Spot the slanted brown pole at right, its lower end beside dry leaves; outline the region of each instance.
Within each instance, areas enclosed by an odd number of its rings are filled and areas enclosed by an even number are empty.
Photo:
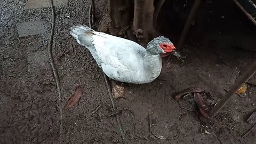
[[[225,106],[228,100],[234,95],[256,72],[256,60],[249,66],[244,74],[235,82],[235,84],[230,88],[230,90],[225,94],[224,97],[217,103],[216,106],[210,111],[210,117],[215,116],[218,111]]]

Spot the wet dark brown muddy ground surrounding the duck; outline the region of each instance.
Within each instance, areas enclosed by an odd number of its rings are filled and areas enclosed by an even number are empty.
[[[61,105],[47,56],[51,9],[25,10],[26,2],[0,3],[0,143],[59,143],[60,139],[63,143],[122,143],[116,118],[105,116],[111,102],[102,72],[89,51],[69,34],[71,26],[88,24],[89,1],[68,1],[55,7],[53,54],[61,82]],[[95,2],[100,19],[107,1]],[[174,44],[186,15],[186,10],[182,12],[162,11],[160,31]],[[17,23],[31,20],[42,21],[45,33],[19,37]],[[162,74],[152,83],[124,84],[126,99],[116,100],[116,105],[130,110],[118,115],[127,142],[254,143],[256,129],[241,136],[252,127],[246,119],[256,110],[256,76],[244,94],[234,95],[211,120],[182,109],[174,95],[200,87],[220,97],[255,60],[255,33],[255,26],[232,1],[203,1],[181,49],[186,58],[172,58],[167,64],[164,59]],[[64,109],[77,85],[84,91],[81,100]],[[100,104],[97,113],[92,113]],[[167,139],[148,138],[149,112],[153,112],[153,133]]]

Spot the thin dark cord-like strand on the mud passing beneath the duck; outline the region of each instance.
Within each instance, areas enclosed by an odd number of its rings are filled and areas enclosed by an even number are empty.
[[[92,1],[91,1],[92,2]],[[90,6],[90,10],[92,8],[92,3],[91,3],[91,6]],[[89,10],[89,26],[90,28],[92,28],[92,23],[91,23],[91,11]],[[102,70],[103,72],[103,70]],[[110,98],[110,101],[111,101],[111,104],[112,104],[112,107],[115,109],[116,108],[116,104],[115,104],[115,100],[113,98],[113,95],[112,95],[112,92],[110,90],[110,85],[109,85],[109,82],[108,82],[108,78],[106,76],[106,74],[103,72],[103,76],[104,76],[104,79],[105,79],[105,82],[106,82],[106,86],[107,86],[107,90],[108,90],[108,94],[109,94],[109,98]],[[123,126],[122,126],[122,123],[120,121],[120,118],[118,115],[115,115],[116,116],[116,121],[117,121],[117,124],[119,126],[119,132],[121,133],[121,137],[123,139],[123,143],[127,143],[126,142],[126,138],[125,138],[125,135],[124,135],[124,131],[123,131]]]

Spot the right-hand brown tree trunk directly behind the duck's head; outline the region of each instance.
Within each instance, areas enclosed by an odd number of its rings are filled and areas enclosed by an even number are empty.
[[[149,39],[159,35],[153,22],[154,0],[134,0],[133,28],[139,43],[144,46],[147,45]]]

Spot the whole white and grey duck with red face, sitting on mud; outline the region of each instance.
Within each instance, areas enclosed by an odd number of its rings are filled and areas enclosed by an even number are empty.
[[[162,69],[160,54],[174,51],[172,42],[163,36],[148,43],[147,49],[124,39],[94,31],[87,26],[73,26],[70,34],[76,41],[90,50],[104,73],[119,82],[144,84],[156,79]]]

